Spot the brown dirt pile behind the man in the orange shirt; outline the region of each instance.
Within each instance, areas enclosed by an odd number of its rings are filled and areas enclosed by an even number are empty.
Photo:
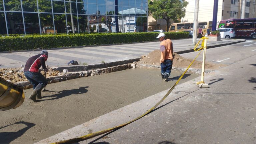
[[[187,68],[190,63],[193,61],[192,59],[187,59],[180,56],[177,53],[173,53],[174,60],[173,60],[173,67],[180,67],[180,68]],[[139,63],[147,64],[147,65],[160,65],[160,58],[161,52],[160,50],[154,50],[153,52],[149,53],[147,56],[142,56]],[[214,70],[218,69],[220,66],[224,66],[222,64],[215,64],[211,62],[205,63],[205,69]],[[190,68],[194,69],[201,69],[202,68],[202,61],[194,61]]]

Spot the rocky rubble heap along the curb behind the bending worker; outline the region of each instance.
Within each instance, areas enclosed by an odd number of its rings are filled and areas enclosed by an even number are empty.
[[[52,68],[49,68],[48,70],[49,71],[46,73],[47,77],[58,76],[61,74],[59,71],[54,71]],[[44,72],[41,71],[41,73],[43,74]],[[1,68],[0,76],[12,83],[27,81],[22,68]]]

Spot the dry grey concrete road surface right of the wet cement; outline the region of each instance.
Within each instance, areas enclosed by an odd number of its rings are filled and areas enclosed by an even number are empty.
[[[250,65],[255,59],[256,55],[253,55],[208,73],[205,81],[210,82],[210,88],[195,86],[195,82],[201,81],[200,77],[177,85],[152,113],[100,139],[92,138],[79,143],[255,144],[256,93],[255,80],[253,82],[251,78],[255,75],[255,66]],[[235,84],[237,82],[243,85]],[[102,115],[37,144],[75,138],[128,122],[153,107],[167,91]]]

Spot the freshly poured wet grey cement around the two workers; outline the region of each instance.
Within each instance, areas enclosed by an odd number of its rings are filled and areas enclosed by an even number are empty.
[[[128,69],[46,86],[43,98],[0,111],[0,143],[31,144],[173,86],[180,71],[164,82],[159,70]],[[198,77],[186,74],[180,83]]]

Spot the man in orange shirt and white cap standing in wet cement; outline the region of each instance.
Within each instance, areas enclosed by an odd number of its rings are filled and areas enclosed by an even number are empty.
[[[160,43],[160,51],[161,51],[161,76],[163,81],[167,81],[168,77],[171,74],[172,70],[172,61],[173,61],[173,44],[170,39],[165,39],[164,33],[159,33],[157,36]]]

